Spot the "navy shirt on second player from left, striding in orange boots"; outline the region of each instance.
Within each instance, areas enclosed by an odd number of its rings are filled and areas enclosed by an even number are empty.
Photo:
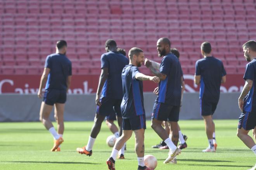
[[[101,97],[123,98],[122,70],[129,60],[119,52],[107,52],[101,55],[101,68],[108,68],[109,75],[103,86]]]

